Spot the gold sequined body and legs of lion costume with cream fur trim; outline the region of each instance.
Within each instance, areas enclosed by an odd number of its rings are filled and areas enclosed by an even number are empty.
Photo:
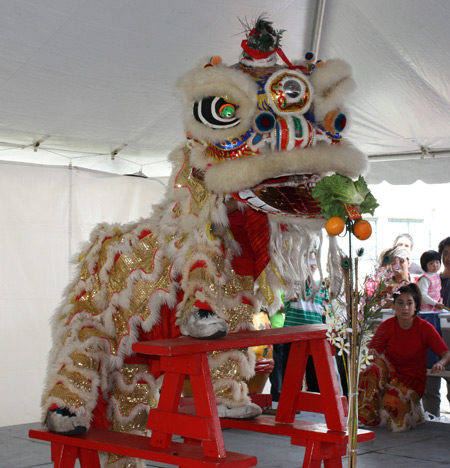
[[[228,218],[217,215],[223,197],[206,189],[187,150],[181,155],[166,199],[151,218],[99,226],[80,254],[78,277],[54,317],[44,414],[57,405],[89,420],[100,391],[112,429],[145,432],[159,385],[147,366],[126,360],[142,331],[168,319],[161,310],[176,311],[180,325],[202,301],[227,320],[231,332],[252,328],[254,278],[232,268],[238,245]],[[248,403],[252,352],[212,353],[209,359],[218,402]],[[112,457],[110,463],[118,461]]]

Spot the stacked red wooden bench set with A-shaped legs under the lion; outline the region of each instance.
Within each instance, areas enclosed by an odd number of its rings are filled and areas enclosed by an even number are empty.
[[[32,430],[30,437],[52,442],[55,468],[73,468],[76,458],[82,468],[98,468],[97,450],[180,467],[255,466],[256,457],[225,450],[221,428],[229,427],[290,436],[293,445],[306,447],[303,468],[318,468],[322,460],[327,468],[341,468],[348,441],[346,399],[339,392],[326,330],[326,325],[306,325],[242,331],[219,340],[180,337],[136,343],[133,345],[136,352],[159,356],[161,370],[165,372],[158,407],[148,417],[150,438],[93,429],[82,436]],[[207,353],[286,342],[292,345],[275,418],[220,420]],[[317,369],[320,393],[301,391],[309,354]],[[186,376],[192,387],[191,407],[180,404]],[[323,413],[326,424],[295,420],[298,410]],[[173,435],[182,436],[185,443],[173,442]],[[358,431],[359,441],[373,438],[371,431]]]

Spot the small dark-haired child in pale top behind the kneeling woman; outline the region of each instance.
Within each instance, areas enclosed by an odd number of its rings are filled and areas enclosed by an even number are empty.
[[[424,271],[417,280],[420,292],[422,293],[422,305],[420,311],[438,312],[444,308],[441,302],[441,256],[435,250],[427,250],[420,257],[420,266]]]

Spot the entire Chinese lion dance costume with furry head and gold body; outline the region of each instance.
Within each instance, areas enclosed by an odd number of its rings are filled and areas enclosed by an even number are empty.
[[[42,400],[49,430],[145,432],[163,376],[133,343],[220,338],[252,328],[261,307],[277,311],[280,290],[304,294],[309,252],[324,241],[311,189],[329,174],[358,177],[367,161],[340,133],[350,67],[311,54],[291,63],[280,38],[259,18],[237,64],[213,57],[178,81],[187,138],[170,155],[163,201],[148,219],[96,228],[53,317]],[[341,287],[335,239],[328,248],[333,292]],[[219,415],[259,415],[245,383],[253,352],[209,359]],[[105,463],[143,466],[115,455]]]

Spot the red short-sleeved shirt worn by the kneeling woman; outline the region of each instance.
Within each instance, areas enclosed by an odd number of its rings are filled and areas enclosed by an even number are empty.
[[[403,330],[396,317],[385,320],[369,347],[384,353],[398,379],[420,396],[425,393],[428,348],[438,356],[448,349],[436,329],[419,317],[414,318],[409,330]]]

